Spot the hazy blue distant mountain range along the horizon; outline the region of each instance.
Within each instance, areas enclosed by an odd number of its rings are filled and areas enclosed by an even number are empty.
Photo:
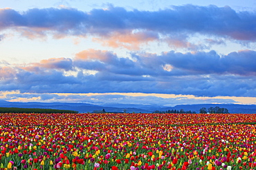
[[[0,100],[0,107],[21,107],[21,108],[44,108],[44,109],[67,109],[75,110],[80,113],[102,111],[104,109],[107,112],[123,112],[124,110],[132,113],[152,113],[153,111],[167,111],[167,110],[185,110],[196,111],[202,107],[224,107],[227,108],[231,114],[256,114],[256,105],[235,105],[235,104],[202,104],[202,105],[176,105],[174,107],[164,107],[162,105],[129,105],[119,103],[107,103],[102,105],[91,105],[88,103],[21,103],[21,102],[8,102]]]

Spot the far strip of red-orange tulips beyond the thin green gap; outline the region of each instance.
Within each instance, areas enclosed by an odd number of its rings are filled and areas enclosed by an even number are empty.
[[[188,125],[255,123],[255,114],[1,114],[0,125]]]

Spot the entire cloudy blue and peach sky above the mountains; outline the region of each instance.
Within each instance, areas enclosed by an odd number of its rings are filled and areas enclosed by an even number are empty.
[[[0,100],[256,104],[256,1],[0,0]]]

